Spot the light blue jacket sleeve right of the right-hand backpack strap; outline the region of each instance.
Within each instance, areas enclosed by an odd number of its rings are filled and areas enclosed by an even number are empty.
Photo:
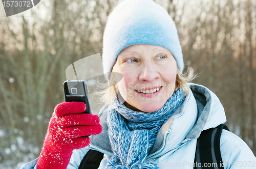
[[[247,144],[236,134],[223,130],[220,150],[225,169],[256,168],[256,157]]]

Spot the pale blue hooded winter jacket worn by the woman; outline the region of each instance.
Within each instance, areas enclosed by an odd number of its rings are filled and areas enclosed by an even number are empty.
[[[197,138],[202,130],[217,127],[226,122],[224,108],[218,97],[204,86],[190,83],[190,90],[182,105],[160,128],[156,142],[146,157],[156,162],[158,168],[193,168],[194,165],[210,166],[214,164],[194,164]],[[91,144],[74,150],[68,169],[78,168],[89,149],[104,153],[99,169],[108,164],[111,150],[106,116],[109,106],[99,112],[102,132],[92,135]],[[256,158],[246,143],[237,135],[223,130],[220,150],[224,168],[256,168]],[[20,169],[36,168],[38,158]]]

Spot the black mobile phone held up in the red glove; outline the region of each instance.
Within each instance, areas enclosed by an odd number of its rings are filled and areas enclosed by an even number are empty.
[[[66,80],[63,83],[65,102],[78,101],[86,104],[84,113],[91,114],[88,98],[88,86],[84,80]]]

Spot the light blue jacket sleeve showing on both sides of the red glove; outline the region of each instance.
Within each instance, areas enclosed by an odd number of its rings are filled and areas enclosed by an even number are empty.
[[[71,156],[67,169],[77,169],[84,155],[86,155],[88,151],[89,151],[88,146],[82,149],[73,150],[73,154]],[[36,169],[36,163],[38,159],[39,157],[31,162],[24,164],[20,169]]]

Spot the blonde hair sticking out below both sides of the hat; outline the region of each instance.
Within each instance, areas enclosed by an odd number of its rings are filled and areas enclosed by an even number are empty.
[[[185,91],[184,96],[186,96],[189,92],[188,82],[195,79],[197,75],[195,75],[195,69],[191,66],[188,66],[186,73],[182,74],[177,67],[177,76],[176,76],[176,84],[175,91],[182,88]],[[99,95],[99,100],[101,103],[109,103],[111,105],[111,101],[114,96],[117,95],[117,80],[115,74],[112,72],[110,75],[110,80],[103,79],[101,81],[97,80],[95,94]]]

